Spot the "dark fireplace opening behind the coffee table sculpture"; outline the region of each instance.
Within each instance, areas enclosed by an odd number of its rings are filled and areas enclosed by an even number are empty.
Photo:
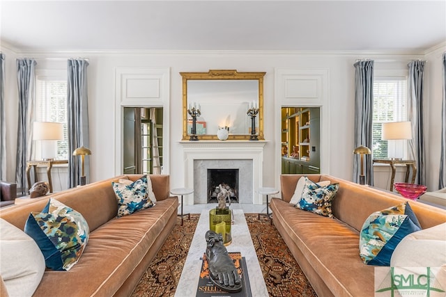
[[[208,169],[208,203],[217,203],[220,184],[229,191],[231,203],[238,203],[238,169]]]

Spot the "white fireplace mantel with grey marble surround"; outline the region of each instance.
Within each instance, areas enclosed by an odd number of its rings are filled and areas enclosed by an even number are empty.
[[[267,141],[180,141],[183,145],[185,187],[194,188],[194,195],[185,197],[185,204],[206,203],[206,182],[200,182],[195,175],[201,174],[206,166],[215,168],[242,168],[249,170],[249,188],[245,193],[252,198],[239,200],[240,203],[263,204],[263,197],[257,189],[263,186],[263,147]],[[215,162],[220,160],[222,162]],[[251,170],[252,168],[252,170]],[[198,172],[198,173],[197,173]],[[243,172],[239,170],[239,178]],[[251,178],[249,177],[251,176]],[[240,186],[240,184],[239,184]],[[204,191],[204,192],[203,192]],[[243,191],[239,188],[239,191]]]

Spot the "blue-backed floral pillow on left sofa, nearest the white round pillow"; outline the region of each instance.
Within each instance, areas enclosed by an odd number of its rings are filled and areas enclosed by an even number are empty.
[[[24,232],[36,241],[48,268],[68,271],[84,252],[90,230],[82,214],[49,199],[42,212],[31,212]]]

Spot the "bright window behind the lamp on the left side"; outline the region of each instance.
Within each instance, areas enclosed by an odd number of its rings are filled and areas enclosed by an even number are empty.
[[[63,141],[57,141],[56,159],[68,159],[67,131],[67,81],[65,77],[37,77],[36,113],[38,122],[61,122]],[[36,147],[36,159],[41,159],[40,147]]]

